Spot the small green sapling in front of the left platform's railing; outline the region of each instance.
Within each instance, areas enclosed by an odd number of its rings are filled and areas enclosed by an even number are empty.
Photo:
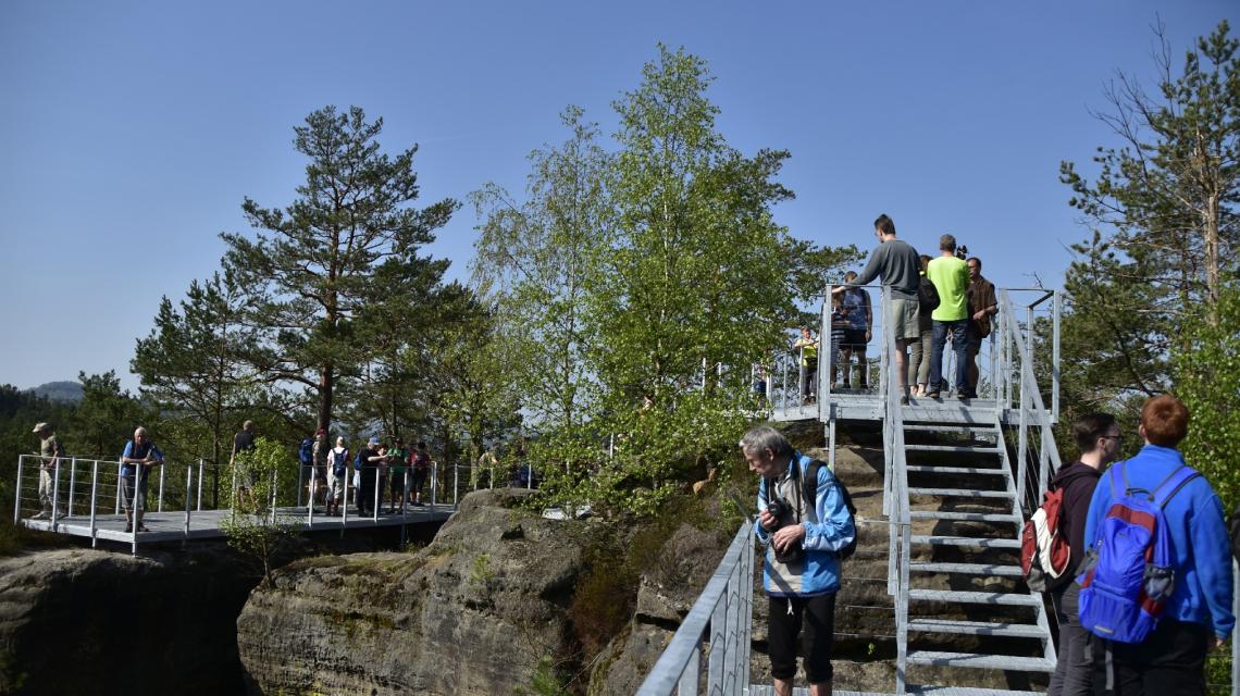
[[[272,500],[279,505],[277,486],[281,480],[296,480],[298,462],[284,445],[260,437],[253,450],[237,455],[233,466],[236,480],[248,478],[253,488],[233,500],[234,514],[221,521],[221,529],[228,546],[253,560],[262,571],[263,586],[269,587],[275,555],[296,533],[296,520],[274,511]],[[228,480],[233,480],[232,471]]]

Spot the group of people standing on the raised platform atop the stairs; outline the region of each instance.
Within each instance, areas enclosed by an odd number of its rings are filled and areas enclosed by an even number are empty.
[[[831,390],[869,388],[866,351],[873,339],[874,313],[863,285],[880,278],[890,294],[884,326],[895,336],[895,365],[904,392],[901,403],[909,403],[910,396],[937,399],[952,387],[960,399],[976,398],[977,355],[998,313],[994,284],[982,275],[982,261],[968,257],[965,247],[957,248],[952,234],[939,238],[937,257],[918,254],[895,236],[895,223],[885,215],[874,221],[874,233],[879,247],[870,254],[864,270],[861,274],[849,270],[843,284],[831,290]],[[955,385],[946,383],[942,368],[949,344],[955,361]],[[818,386],[820,339],[811,328],[802,326],[792,350],[800,359],[801,399],[813,402]],[[761,377],[755,380],[755,391],[765,391],[765,372]]]

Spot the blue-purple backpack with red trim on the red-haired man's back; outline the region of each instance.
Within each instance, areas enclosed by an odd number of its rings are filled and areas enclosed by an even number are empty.
[[[1176,589],[1171,535],[1163,507],[1189,481],[1200,476],[1189,466],[1171,473],[1153,493],[1128,486],[1125,464],[1111,471],[1115,501],[1085,556],[1080,624],[1094,635],[1117,643],[1141,643],[1158,625]],[[1123,495],[1117,479],[1123,479]]]

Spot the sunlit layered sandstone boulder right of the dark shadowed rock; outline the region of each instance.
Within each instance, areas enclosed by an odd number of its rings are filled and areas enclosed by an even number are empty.
[[[408,553],[299,561],[237,620],[252,691],[492,694],[573,653],[568,607],[590,522],[512,509],[515,491],[463,500]]]

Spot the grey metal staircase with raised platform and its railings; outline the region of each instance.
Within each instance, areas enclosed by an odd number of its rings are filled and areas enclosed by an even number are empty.
[[[885,308],[885,298],[882,304]],[[997,326],[977,359],[982,398],[962,401],[945,391],[940,399],[901,404],[895,371],[888,368],[895,344],[885,332],[874,365],[879,378],[869,382],[874,390],[833,388],[827,351],[820,351],[822,388],[816,402],[801,398],[806,380],[796,373],[799,355],[758,376],[766,378],[773,421],[822,424],[832,466],[839,422],[882,422],[882,516],[858,515],[858,533],[864,548],[887,542],[885,592],[894,607],[885,610],[895,659],[890,691],[883,692],[1032,695],[1043,692],[1054,671],[1053,622],[1042,594],[1022,582],[1018,552],[1024,517],[1061,466],[1053,434],[1059,418],[1059,315],[1055,292],[999,292]],[[878,319],[885,316],[878,313]],[[825,306],[820,336],[831,335],[827,320]],[[773,694],[769,685],[750,679],[751,525],[737,531],[639,694]],[[856,558],[844,566],[846,588]],[[1236,598],[1240,603],[1240,592]],[[867,608],[874,607],[856,609]],[[837,605],[837,639],[844,610]],[[1240,664],[1238,643],[1233,665]],[[857,694],[839,689],[847,684],[838,669],[835,686],[837,695]],[[1235,670],[1231,692],[1240,694]]]

